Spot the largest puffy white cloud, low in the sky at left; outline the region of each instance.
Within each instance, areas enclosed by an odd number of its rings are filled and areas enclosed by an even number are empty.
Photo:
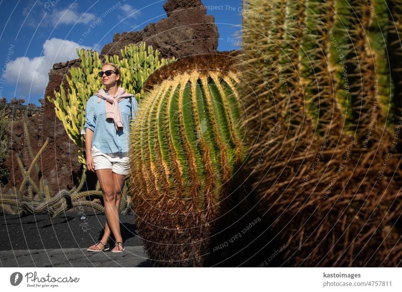
[[[75,42],[50,39],[43,44],[43,56],[19,57],[8,64],[6,82],[15,84],[22,96],[41,95],[48,83],[48,73],[54,63],[77,59],[76,48],[89,50]]]

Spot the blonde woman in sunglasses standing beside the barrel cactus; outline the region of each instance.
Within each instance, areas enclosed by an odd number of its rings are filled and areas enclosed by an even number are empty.
[[[125,175],[129,172],[128,139],[129,123],[137,111],[133,94],[119,87],[121,72],[117,65],[106,63],[99,72],[105,89],[91,96],[85,108],[86,167],[95,172],[102,189],[106,224],[102,239],[88,251],[107,251],[110,235],[116,244],[112,252],[123,252],[120,232],[120,199]],[[131,102],[130,102],[131,100]]]

